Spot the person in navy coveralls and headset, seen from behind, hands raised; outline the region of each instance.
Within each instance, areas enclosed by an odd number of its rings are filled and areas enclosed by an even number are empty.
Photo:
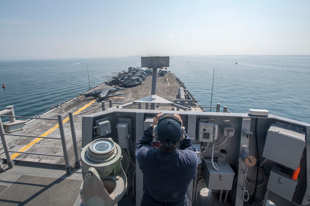
[[[159,147],[152,147],[153,136]],[[179,142],[179,148],[177,143]],[[136,143],[145,180],[141,205],[188,205],[187,189],[196,175],[197,154],[178,114],[157,114]]]

